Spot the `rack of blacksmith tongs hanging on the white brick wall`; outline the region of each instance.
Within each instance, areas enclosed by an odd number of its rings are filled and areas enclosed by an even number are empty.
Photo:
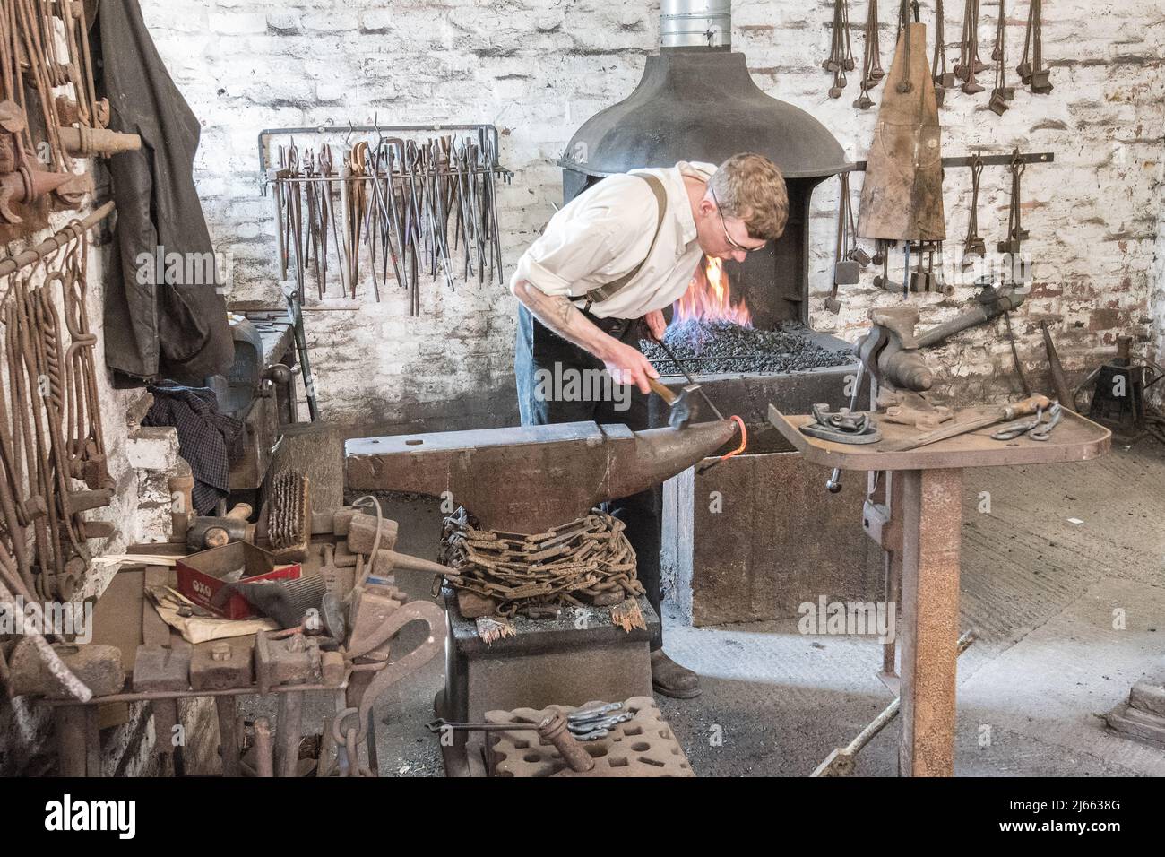
[[[367,282],[381,301],[395,280],[416,316],[422,276],[450,289],[503,283],[497,185],[514,174],[497,162],[495,126],[268,128],[259,156],[263,191],[274,189],[281,281],[301,303],[312,281],[319,300],[358,300]]]

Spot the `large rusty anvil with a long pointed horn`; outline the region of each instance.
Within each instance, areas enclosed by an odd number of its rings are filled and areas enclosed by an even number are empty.
[[[363,437],[345,444],[345,483],[351,491],[450,492],[485,528],[542,533],[658,485],[735,433],[734,422],[718,420],[645,431],[569,422]]]

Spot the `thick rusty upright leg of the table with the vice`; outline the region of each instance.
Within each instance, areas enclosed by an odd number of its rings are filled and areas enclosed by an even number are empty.
[[[902,479],[899,773],[953,777],[962,470]]]

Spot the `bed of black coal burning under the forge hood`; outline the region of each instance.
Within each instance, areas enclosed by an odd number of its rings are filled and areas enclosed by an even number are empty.
[[[690,374],[764,373],[783,374],[829,366],[846,366],[854,356],[846,350],[822,347],[813,331],[798,322],[775,330],[744,328],[734,322],[689,319],[668,328],[664,342]],[[644,339],[640,347],[662,375],[682,374],[656,343]]]

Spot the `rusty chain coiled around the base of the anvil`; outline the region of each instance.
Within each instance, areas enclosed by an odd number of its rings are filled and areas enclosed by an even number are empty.
[[[525,535],[479,529],[459,508],[445,519],[442,559],[454,570],[445,575],[454,589],[495,602],[507,617],[586,602],[617,606],[644,592],[623,522],[598,510]]]

